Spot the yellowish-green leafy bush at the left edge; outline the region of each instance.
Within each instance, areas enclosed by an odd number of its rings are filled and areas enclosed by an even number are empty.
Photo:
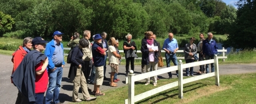
[[[0,35],[3,36],[4,33],[10,31],[12,29],[12,25],[14,24],[14,19],[11,15],[4,14],[0,11]]]

